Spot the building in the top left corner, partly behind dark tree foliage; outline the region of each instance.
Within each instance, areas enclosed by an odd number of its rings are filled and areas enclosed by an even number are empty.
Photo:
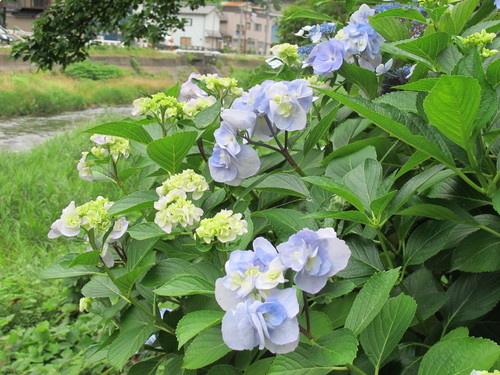
[[[0,23],[3,23],[4,18],[6,28],[23,31],[31,31],[33,22],[38,18],[40,13],[46,10],[53,0],[9,0],[0,1]]]

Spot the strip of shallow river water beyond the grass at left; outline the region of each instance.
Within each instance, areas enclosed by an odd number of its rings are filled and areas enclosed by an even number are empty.
[[[106,115],[129,117],[131,110],[131,107],[108,107],[49,116],[0,118],[0,151],[26,151],[69,129],[105,119]]]

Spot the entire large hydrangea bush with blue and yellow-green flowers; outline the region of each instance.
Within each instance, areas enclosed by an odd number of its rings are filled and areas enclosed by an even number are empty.
[[[89,278],[81,310],[107,326],[93,358],[131,374],[498,367],[496,5],[353,4],[294,14],[323,23],[246,91],[193,73],[89,130],[79,175],[123,198],[64,208],[48,235],[82,251],[43,276]]]

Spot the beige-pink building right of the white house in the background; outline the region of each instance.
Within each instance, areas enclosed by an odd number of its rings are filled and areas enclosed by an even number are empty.
[[[277,42],[275,31],[279,12],[270,4],[264,8],[248,1],[222,2],[222,10],[221,33],[226,48],[240,53],[269,53],[271,45]]]

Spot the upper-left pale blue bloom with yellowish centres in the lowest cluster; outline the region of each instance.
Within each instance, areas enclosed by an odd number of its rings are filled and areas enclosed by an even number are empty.
[[[223,310],[248,298],[261,300],[284,283],[283,265],[276,248],[265,238],[253,241],[254,251],[233,251],[225,264],[226,276],[215,283],[215,298]]]

